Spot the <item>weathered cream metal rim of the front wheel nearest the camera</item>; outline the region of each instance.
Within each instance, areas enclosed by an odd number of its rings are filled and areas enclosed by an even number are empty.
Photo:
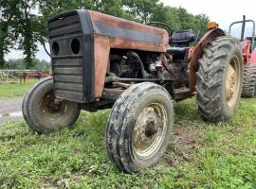
[[[167,112],[158,103],[145,107],[137,117],[133,149],[140,159],[148,159],[161,146],[167,130]]]

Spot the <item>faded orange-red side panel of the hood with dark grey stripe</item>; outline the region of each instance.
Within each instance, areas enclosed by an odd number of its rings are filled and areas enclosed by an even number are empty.
[[[101,97],[111,48],[166,52],[166,30],[89,10],[94,30],[95,97]]]

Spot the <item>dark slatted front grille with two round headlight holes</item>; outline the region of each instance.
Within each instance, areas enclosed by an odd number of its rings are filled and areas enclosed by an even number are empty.
[[[71,48],[74,39],[80,41],[82,39],[79,16],[77,14],[62,16],[51,21],[48,28],[55,95],[82,102],[82,52],[76,54]],[[53,43],[58,43],[57,54],[53,53]]]

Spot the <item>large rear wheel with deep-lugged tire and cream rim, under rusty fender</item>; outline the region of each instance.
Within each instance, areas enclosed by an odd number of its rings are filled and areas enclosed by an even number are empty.
[[[238,40],[220,37],[211,42],[199,60],[197,104],[210,122],[227,121],[237,108],[242,91],[243,56]]]

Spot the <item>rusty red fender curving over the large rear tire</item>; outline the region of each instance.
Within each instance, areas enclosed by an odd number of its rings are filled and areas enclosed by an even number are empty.
[[[204,53],[204,48],[216,38],[225,36],[225,32],[220,28],[215,28],[208,31],[197,43],[197,45],[192,49],[192,58],[189,63],[190,68],[190,92],[195,94],[195,84],[196,84],[196,72],[199,68],[198,60],[202,58]]]

